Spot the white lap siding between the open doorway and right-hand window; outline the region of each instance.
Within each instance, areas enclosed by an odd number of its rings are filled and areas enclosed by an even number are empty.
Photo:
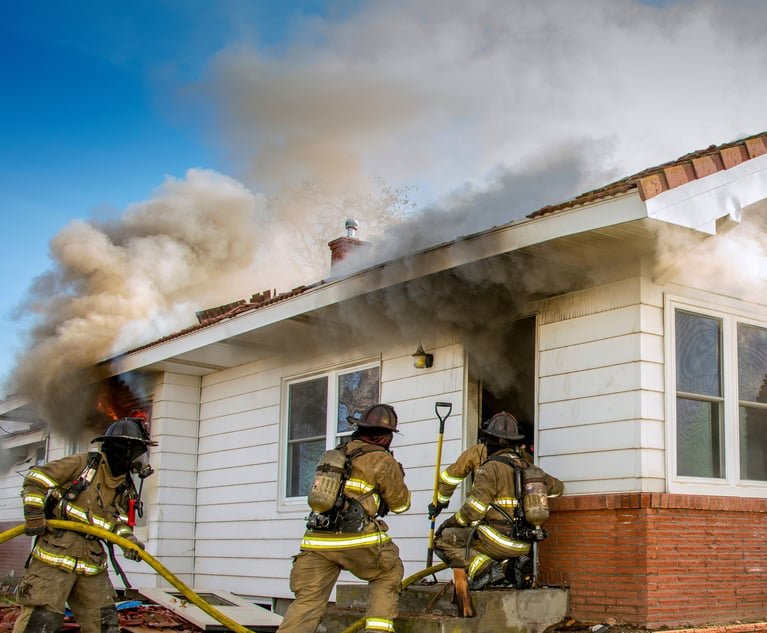
[[[536,450],[566,494],[665,489],[662,324],[638,277],[542,305]]]

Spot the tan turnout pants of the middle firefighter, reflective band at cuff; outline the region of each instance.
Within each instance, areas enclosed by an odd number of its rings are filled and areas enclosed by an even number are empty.
[[[387,541],[370,547],[298,554],[290,572],[290,589],[296,599],[285,613],[278,633],[314,633],[344,569],[368,582],[365,630],[393,632],[405,570],[399,548]]]

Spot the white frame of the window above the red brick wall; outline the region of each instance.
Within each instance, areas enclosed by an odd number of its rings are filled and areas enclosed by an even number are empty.
[[[738,324],[767,330],[764,314],[756,314],[749,306],[738,301],[726,307],[666,295],[666,479],[672,494],[724,495],[735,497],[763,497],[767,494],[767,481],[740,478],[740,399],[738,392]],[[721,478],[685,476],[677,474],[677,398],[685,392],[677,391],[676,313],[683,311],[721,324],[721,389],[724,441],[724,473]],[[761,317],[761,318],[760,318]]]

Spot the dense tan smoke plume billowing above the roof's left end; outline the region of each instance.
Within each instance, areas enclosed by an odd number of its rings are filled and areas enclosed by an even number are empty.
[[[71,222],[51,241],[54,267],[19,307],[35,325],[13,388],[72,430],[95,404],[96,364],[190,325],[200,304],[242,285],[258,263],[262,206],[233,179],[190,170],[119,220]]]

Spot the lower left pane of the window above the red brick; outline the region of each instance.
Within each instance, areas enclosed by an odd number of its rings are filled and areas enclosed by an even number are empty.
[[[722,477],[723,435],[720,405],[677,398],[677,474]]]

